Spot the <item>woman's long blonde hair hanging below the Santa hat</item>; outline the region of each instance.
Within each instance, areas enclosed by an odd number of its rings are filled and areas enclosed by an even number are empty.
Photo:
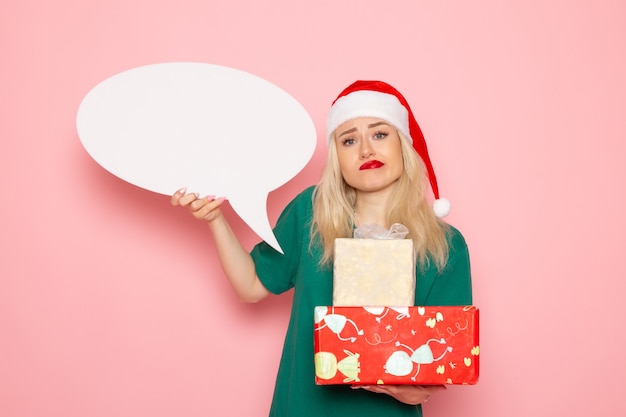
[[[426,200],[426,167],[410,142],[398,132],[404,170],[397,180],[390,201],[388,224],[401,223],[413,239],[417,263],[424,268],[432,260],[438,270],[448,258],[447,224],[439,220]],[[333,259],[336,238],[352,237],[356,224],[354,205],[356,190],[341,175],[334,135],[328,147],[328,158],[322,178],[313,192],[313,221],[311,244],[319,242],[323,252],[321,264]]]

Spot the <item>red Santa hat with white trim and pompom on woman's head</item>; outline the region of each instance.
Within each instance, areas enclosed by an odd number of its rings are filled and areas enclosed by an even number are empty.
[[[437,217],[450,212],[450,202],[439,197],[439,187],[428,156],[426,140],[411,107],[398,90],[382,81],[356,81],[343,90],[328,112],[326,138],[330,141],[339,125],[358,117],[376,117],[391,123],[413,144],[426,165],[428,180],[435,196],[433,210]]]

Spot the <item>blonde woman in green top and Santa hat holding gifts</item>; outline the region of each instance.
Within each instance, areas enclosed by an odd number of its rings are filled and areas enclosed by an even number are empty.
[[[380,81],[357,81],[331,106],[328,160],[319,184],[300,193],[274,233],[280,254],[264,242],[246,252],[220,211],[223,199],[176,192],[181,205],[208,223],[222,267],[242,301],[293,288],[271,416],[421,416],[421,404],[443,386],[315,385],[313,309],[332,305],[335,238],[355,227],[401,223],[417,253],[417,305],[471,305],[467,246],[438,218],[447,211],[426,143],[404,97]],[[425,197],[428,183],[436,201]],[[439,214],[436,214],[439,212]]]

